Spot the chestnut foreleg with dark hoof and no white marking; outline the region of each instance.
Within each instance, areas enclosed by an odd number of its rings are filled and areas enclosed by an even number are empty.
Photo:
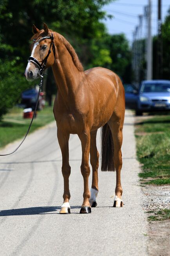
[[[84,180],[84,193],[83,204],[81,206],[80,213],[91,213],[91,207],[89,203],[90,191],[89,191],[89,152],[90,152],[90,131],[86,130],[79,135],[82,148],[82,161],[81,161],[81,174]]]

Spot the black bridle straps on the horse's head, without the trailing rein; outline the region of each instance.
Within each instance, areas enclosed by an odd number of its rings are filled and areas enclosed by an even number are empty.
[[[41,39],[39,39],[37,41],[35,39],[33,39],[33,41],[35,41],[36,43],[40,43],[41,41],[43,41],[45,39],[51,39],[51,44],[50,44],[50,48],[49,48],[48,54],[43,59],[42,63],[40,63],[36,58],[34,58],[32,56],[30,56],[28,58],[28,61],[31,61],[31,62],[35,63],[38,66],[40,76],[43,75],[43,71],[45,69],[45,65],[47,63],[47,59],[48,59],[49,55],[51,54],[51,46],[52,46],[52,51],[53,51],[53,54],[54,54],[54,61],[55,61],[55,58],[56,58],[56,49],[55,49],[55,45],[54,45],[54,42],[53,42],[54,37],[53,37],[52,33],[51,33],[51,36],[42,37]]]

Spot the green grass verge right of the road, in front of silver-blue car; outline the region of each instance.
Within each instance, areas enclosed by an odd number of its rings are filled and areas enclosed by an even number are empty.
[[[139,177],[157,178],[147,184],[170,184],[170,116],[138,123],[136,134],[137,158],[143,164]]]

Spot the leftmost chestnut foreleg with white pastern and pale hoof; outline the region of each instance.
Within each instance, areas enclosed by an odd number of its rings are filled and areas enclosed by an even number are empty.
[[[70,191],[69,191],[69,176],[71,173],[71,167],[69,165],[69,134],[63,134],[58,129],[57,131],[58,142],[62,153],[62,174],[64,178],[64,193],[63,204],[61,206],[60,213],[70,213]]]

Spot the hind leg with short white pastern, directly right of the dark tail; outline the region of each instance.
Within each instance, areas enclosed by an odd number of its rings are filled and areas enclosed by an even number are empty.
[[[122,167],[122,154],[121,145],[123,141],[122,129],[123,129],[124,118],[119,120],[110,119],[108,122],[110,130],[112,132],[113,142],[114,142],[114,166],[116,169],[116,188],[115,188],[115,198],[113,207],[123,207],[122,187],[121,187],[121,167]]]

